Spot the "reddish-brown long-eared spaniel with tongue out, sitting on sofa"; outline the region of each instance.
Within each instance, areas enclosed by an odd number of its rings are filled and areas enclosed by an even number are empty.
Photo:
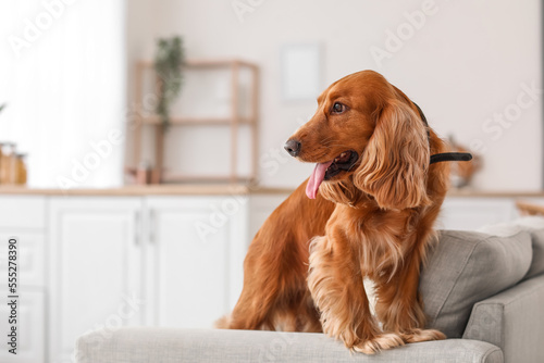
[[[255,236],[217,327],[323,331],[367,354],[445,339],[425,329],[418,286],[448,188],[447,164],[430,161],[446,146],[419,107],[379,73],[354,73],[285,149],[316,167]]]

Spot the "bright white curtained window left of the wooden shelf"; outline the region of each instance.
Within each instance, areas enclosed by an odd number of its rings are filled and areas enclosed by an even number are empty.
[[[28,153],[30,186],[122,185],[124,2],[0,3],[0,140]]]

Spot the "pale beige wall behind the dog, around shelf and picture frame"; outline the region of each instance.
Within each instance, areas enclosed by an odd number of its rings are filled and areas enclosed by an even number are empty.
[[[233,4],[252,11],[240,17]],[[410,26],[406,13],[422,9],[424,24]],[[133,65],[152,58],[154,38],[178,34],[188,58],[258,63],[265,186],[296,186],[312,170],[286,153],[276,155],[316,107],[282,100],[280,51],[286,43],[319,42],[323,88],[349,73],[375,70],[418,102],[442,136],[454,134],[482,154],[477,188],[536,190],[542,186],[542,96],[524,89],[542,86],[540,24],[536,0],[132,0],[127,51]],[[398,51],[386,48],[390,30],[405,32]],[[391,58],[379,64],[371,53],[375,48],[393,50]],[[493,118],[505,112],[502,124]]]

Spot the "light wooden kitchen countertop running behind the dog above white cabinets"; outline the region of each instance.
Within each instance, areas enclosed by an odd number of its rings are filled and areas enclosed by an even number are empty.
[[[124,186],[119,188],[27,188],[22,186],[0,186],[0,195],[34,196],[224,196],[224,195],[288,195],[292,188],[248,187],[245,185],[153,185]],[[484,191],[473,189],[452,189],[449,197],[470,198],[544,198],[544,191]]]

